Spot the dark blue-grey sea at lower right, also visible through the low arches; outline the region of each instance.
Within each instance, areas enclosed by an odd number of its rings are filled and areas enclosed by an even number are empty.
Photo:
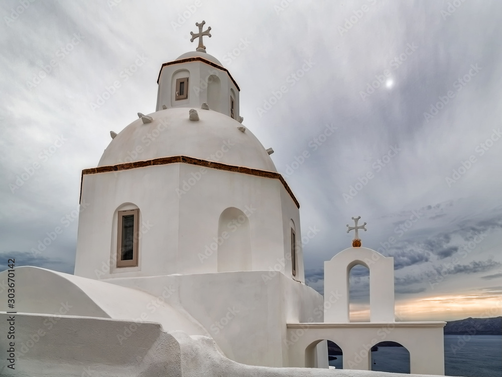
[[[342,368],[343,356],[329,365]],[[372,370],[409,373],[410,356],[404,347],[378,347],[371,352]],[[502,377],[501,335],[445,335],[445,375],[465,377]]]

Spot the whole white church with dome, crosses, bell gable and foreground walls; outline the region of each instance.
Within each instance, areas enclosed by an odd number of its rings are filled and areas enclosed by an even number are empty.
[[[382,341],[406,347],[411,373],[444,375],[445,322],[396,321],[394,260],[361,247],[359,218],[324,264],[324,297],[305,284],[300,204],[243,124],[204,24],[196,51],[162,65],[156,111],[82,171],[74,275],[0,273],[16,281],[14,307],[0,293],[0,375],[369,376]],[[349,320],[357,264],[369,322]]]

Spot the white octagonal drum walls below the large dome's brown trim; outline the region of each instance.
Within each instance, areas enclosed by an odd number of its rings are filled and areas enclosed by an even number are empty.
[[[299,223],[298,208],[278,179],[190,164],[85,174],[81,203],[75,274],[94,279],[217,272],[218,221],[230,207],[247,216],[251,269],[284,272],[289,219]],[[130,207],[140,209],[139,265],[116,267],[117,211]],[[304,276],[301,252],[298,261],[297,279]]]

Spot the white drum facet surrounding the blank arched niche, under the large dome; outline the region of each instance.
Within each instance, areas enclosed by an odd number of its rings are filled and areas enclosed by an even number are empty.
[[[200,166],[182,164],[180,185],[183,186],[184,181],[188,182],[200,170]],[[205,171],[180,198],[177,272],[218,271],[217,251],[211,251],[218,237],[219,217],[230,207],[239,209],[248,217],[252,269],[273,269],[277,259],[283,257],[285,247],[281,192],[286,190],[282,183],[278,179],[224,170]],[[233,235],[232,229],[228,229],[229,237]]]

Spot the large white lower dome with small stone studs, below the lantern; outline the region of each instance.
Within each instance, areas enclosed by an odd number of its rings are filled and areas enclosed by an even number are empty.
[[[199,121],[189,120],[189,108],[172,108],[149,114],[151,123],[135,120],[103,152],[98,166],[188,156],[260,170],[277,169],[269,154],[236,120],[212,110],[196,109]]]

